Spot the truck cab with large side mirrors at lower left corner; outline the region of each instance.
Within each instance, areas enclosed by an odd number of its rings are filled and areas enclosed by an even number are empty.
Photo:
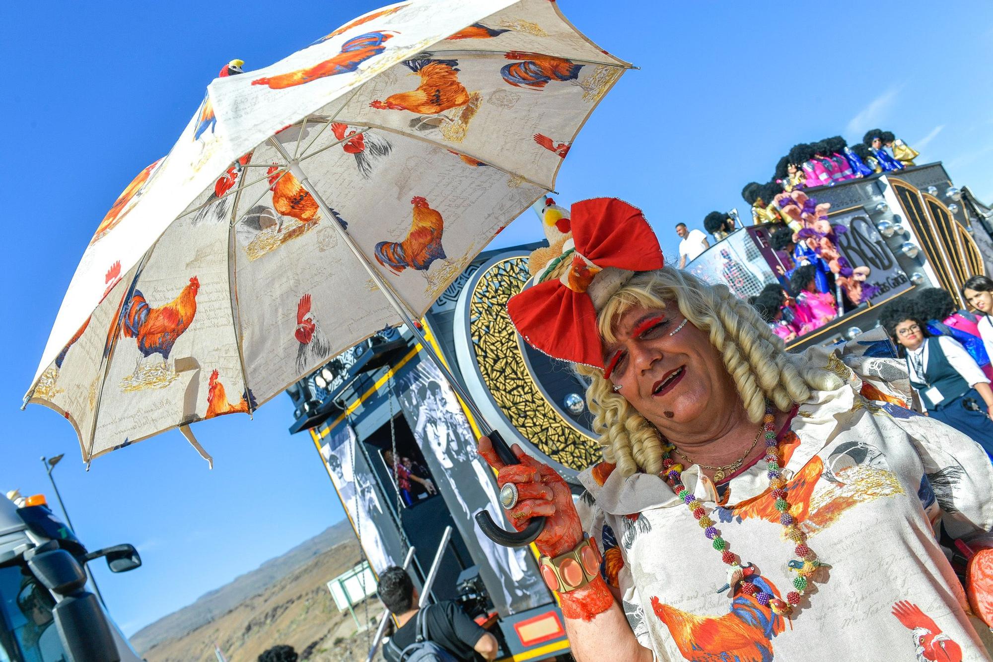
[[[141,662],[86,590],[101,557],[115,573],[141,565],[131,545],[87,552],[41,495],[0,498],[0,662]]]

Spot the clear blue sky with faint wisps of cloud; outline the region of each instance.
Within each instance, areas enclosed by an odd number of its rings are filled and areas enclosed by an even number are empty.
[[[71,426],[21,397],[93,229],[134,173],[165,154],[221,65],[269,65],[380,3],[3,3],[0,118],[11,250],[2,262],[0,488],[50,493],[56,469],[91,547],[132,542],[145,566],[96,576],[131,633],[344,515],[289,399],[197,425],[214,469],[177,433],[97,459],[86,473]],[[673,225],[702,225],[767,181],[797,142],[894,131],[993,200],[993,5],[560,0],[603,48],[640,66],[594,113],[559,174],[559,200],[640,206],[674,252]],[[774,9],[778,8],[778,9]],[[525,215],[498,237],[539,238]]]

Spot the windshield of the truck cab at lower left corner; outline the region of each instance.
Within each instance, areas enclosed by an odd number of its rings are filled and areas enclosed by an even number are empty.
[[[0,568],[0,662],[66,662],[55,603],[26,568]]]

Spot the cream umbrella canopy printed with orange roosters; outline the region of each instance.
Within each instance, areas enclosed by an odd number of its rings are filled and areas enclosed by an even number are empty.
[[[548,0],[420,0],[223,70],[100,222],[26,402],[86,461],[250,413],[399,324],[376,280],[421,317],[627,67]]]

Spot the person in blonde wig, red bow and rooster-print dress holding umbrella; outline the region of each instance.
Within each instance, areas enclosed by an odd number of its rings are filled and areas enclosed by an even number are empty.
[[[989,659],[936,536],[980,545],[993,465],[907,408],[885,335],[787,353],[726,286],[665,265],[637,208],[589,199],[571,221],[507,312],[589,380],[604,462],[574,504],[519,447],[480,453],[518,530],[546,517],[573,655]]]

